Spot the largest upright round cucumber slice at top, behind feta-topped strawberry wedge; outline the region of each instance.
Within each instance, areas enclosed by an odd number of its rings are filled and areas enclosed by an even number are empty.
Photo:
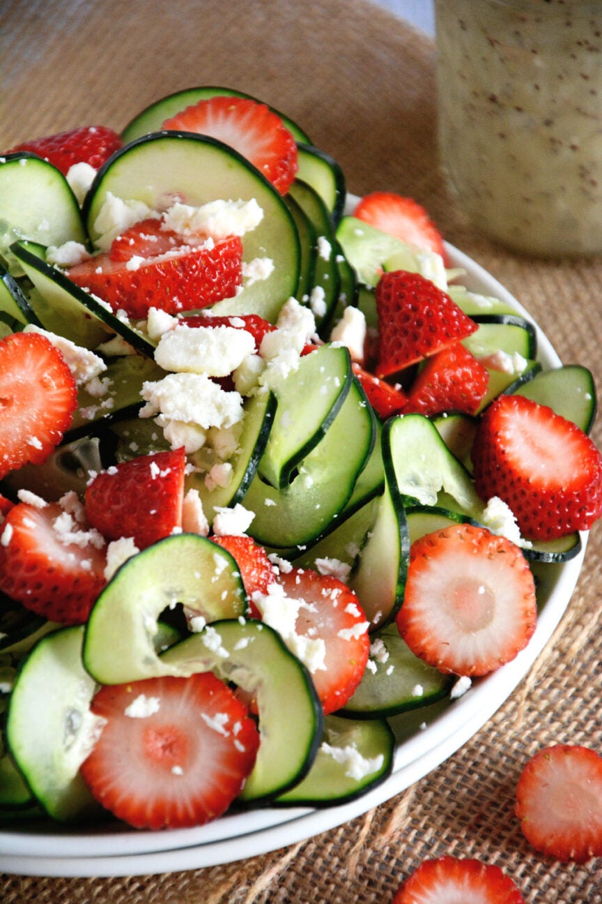
[[[282,196],[233,148],[190,132],[161,132],[136,139],[102,166],[83,207],[94,242],[98,213],[107,193],[162,210],[174,198],[197,205],[216,200],[255,201],[264,218],[243,239],[245,263],[273,261],[266,279],[247,285],[234,298],[212,307],[216,314],[259,314],[274,322],[299,282],[300,245],[297,230]]]

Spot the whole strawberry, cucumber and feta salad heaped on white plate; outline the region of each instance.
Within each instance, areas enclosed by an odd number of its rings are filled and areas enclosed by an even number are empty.
[[[591,374],[231,89],[0,159],[0,817],[383,782],[602,514]]]

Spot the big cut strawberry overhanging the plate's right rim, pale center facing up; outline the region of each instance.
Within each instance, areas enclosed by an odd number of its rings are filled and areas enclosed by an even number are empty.
[[[545,405],[499,396],[483,414],[472,460],[477,493],[503,499],[526,537],[585,531],[602,515],[602,456]]]

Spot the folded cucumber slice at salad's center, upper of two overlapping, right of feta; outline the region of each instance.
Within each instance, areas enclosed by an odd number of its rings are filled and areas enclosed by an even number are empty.
[[[270,382],[277,408],[259,463],[264,480],[276,489],[291,483],[294,470],[336,418],[352,379],[347,349],[321,345],[299,359],[297,370]]]

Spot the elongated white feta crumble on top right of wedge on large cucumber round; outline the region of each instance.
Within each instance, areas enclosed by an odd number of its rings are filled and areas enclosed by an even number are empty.
[[[229,235],[243,236],[253,231],[264,219],[264,212],[251,201],[210,201],[200,207],[176,202],[163,214],[165,229],[181,235],[209,235],[225,239]]]

